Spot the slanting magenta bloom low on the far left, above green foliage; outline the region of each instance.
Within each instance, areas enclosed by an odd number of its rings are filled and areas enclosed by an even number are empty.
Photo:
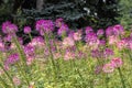
[[[6,65],[11,65],[11,64],[14,64],[19,61],[19,54],[18,53],[14,53],[14,54],[11,54],[6,61],[4,61],[4,64]]]

